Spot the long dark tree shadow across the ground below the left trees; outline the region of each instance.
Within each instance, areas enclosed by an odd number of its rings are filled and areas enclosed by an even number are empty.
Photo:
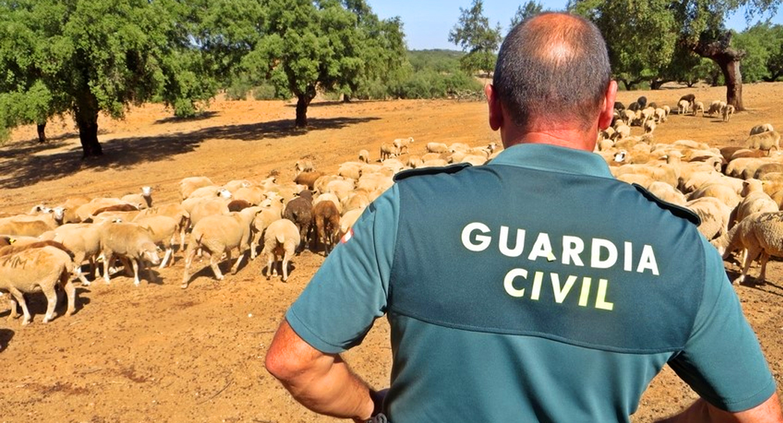
[[[246,142],[263,139],[297,137],[311,131],[341,129],[363,124],[379,117],[333,117],[310,119],[306,130],[294,127],[293,120],[273,120],[258,124],[205,127],[197,131],[145,137],[115,138],[101,142],[103,156],[82,160],[81,145],[67,151],[47,153],[67,142],[20,142],[13,148],[0,149],[0,188],[22,188],[41,181],[53,181],[78,170],[108,170],[133,167],[139,163],[174,160],[174,156],[192,152],[208,139],[230,139]],[[19,148],[17,148],[17,145]]]

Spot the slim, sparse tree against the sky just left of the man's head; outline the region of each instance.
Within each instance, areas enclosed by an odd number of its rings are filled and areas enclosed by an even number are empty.
[[[449,32],[449,42],[467,52],[460,59],[460,65],[467,73],[481,70],[490,73],[495,68],[501,40],[500,23],[495,28],[489,26],[482,0],[473,0],[470,9],[460,7],[460,20]]]

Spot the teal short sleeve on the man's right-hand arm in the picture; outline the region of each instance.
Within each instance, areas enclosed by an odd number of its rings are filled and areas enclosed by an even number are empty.
[[[702,239],[705,289],[687,345],[669,361],[699,396],[727,411],[756,407],[775,391],[759,341],[742,314],[723,260]]]

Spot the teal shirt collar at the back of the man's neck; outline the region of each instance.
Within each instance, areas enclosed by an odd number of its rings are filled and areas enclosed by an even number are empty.
[[[504,149],[489,165],[528,167],[536,170],[613,177],[604,158],[578,149],[547,144],[518,144]]]

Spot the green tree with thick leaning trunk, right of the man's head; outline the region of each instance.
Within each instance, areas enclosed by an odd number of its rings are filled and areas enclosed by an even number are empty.
[[[612,66],[621,81],[628,75],[660,84],[672,75],[687,73],[689,66],[698,63],[698,55],[720,66],[727,84],[727,102],[743,109],[739,63],[745,52],[732,45],[734,34],[724,22],[739,9],[751,18],[774,12],[780,3],[781,0],[569,0],[568,9],[601,28]]]

